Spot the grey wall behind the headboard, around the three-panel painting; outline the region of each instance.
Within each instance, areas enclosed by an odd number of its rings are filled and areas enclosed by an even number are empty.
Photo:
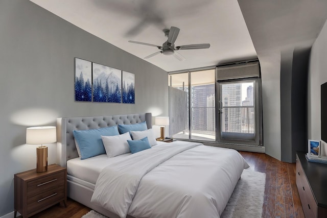
[[[135,105],[75,102],[75,57],[133,72]],[[0,66],[0,216],[14,210],[14,174],[36,167],[26,127],[55,125],[61,116],[168,115],[166,71],[26,0],[0,1]],[[55,163],[56,144],[48,147]]]

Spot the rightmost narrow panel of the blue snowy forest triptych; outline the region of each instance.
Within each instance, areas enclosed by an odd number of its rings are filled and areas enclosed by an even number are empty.
[[[123,103],[135,104],[135,74],[123,71]]]

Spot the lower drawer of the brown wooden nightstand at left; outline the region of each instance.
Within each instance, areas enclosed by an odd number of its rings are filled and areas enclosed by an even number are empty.
[[[27,214],[28,216],[43,210],[48,205],[53,205],[56,202],[62,201],[65,197],[64,187],[57,187],[49,191],[45,191],[27,201]]]

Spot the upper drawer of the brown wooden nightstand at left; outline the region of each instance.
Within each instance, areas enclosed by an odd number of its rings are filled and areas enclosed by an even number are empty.
[[[46,176],[40,179],[27,183],[27,197],[31,198],[35,195],[43,193],[46,190],[50,190],[56,187],[63,187],[65,172],[60,172],[53,174],[51,176]]]

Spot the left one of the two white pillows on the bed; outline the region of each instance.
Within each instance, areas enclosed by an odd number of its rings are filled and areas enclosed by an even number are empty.
[[[101,136],[104,148],[109,157],[115,157],[121,154],[131,152],[127,140],[132,140],[129,132],[114,135],[114,136]]]

